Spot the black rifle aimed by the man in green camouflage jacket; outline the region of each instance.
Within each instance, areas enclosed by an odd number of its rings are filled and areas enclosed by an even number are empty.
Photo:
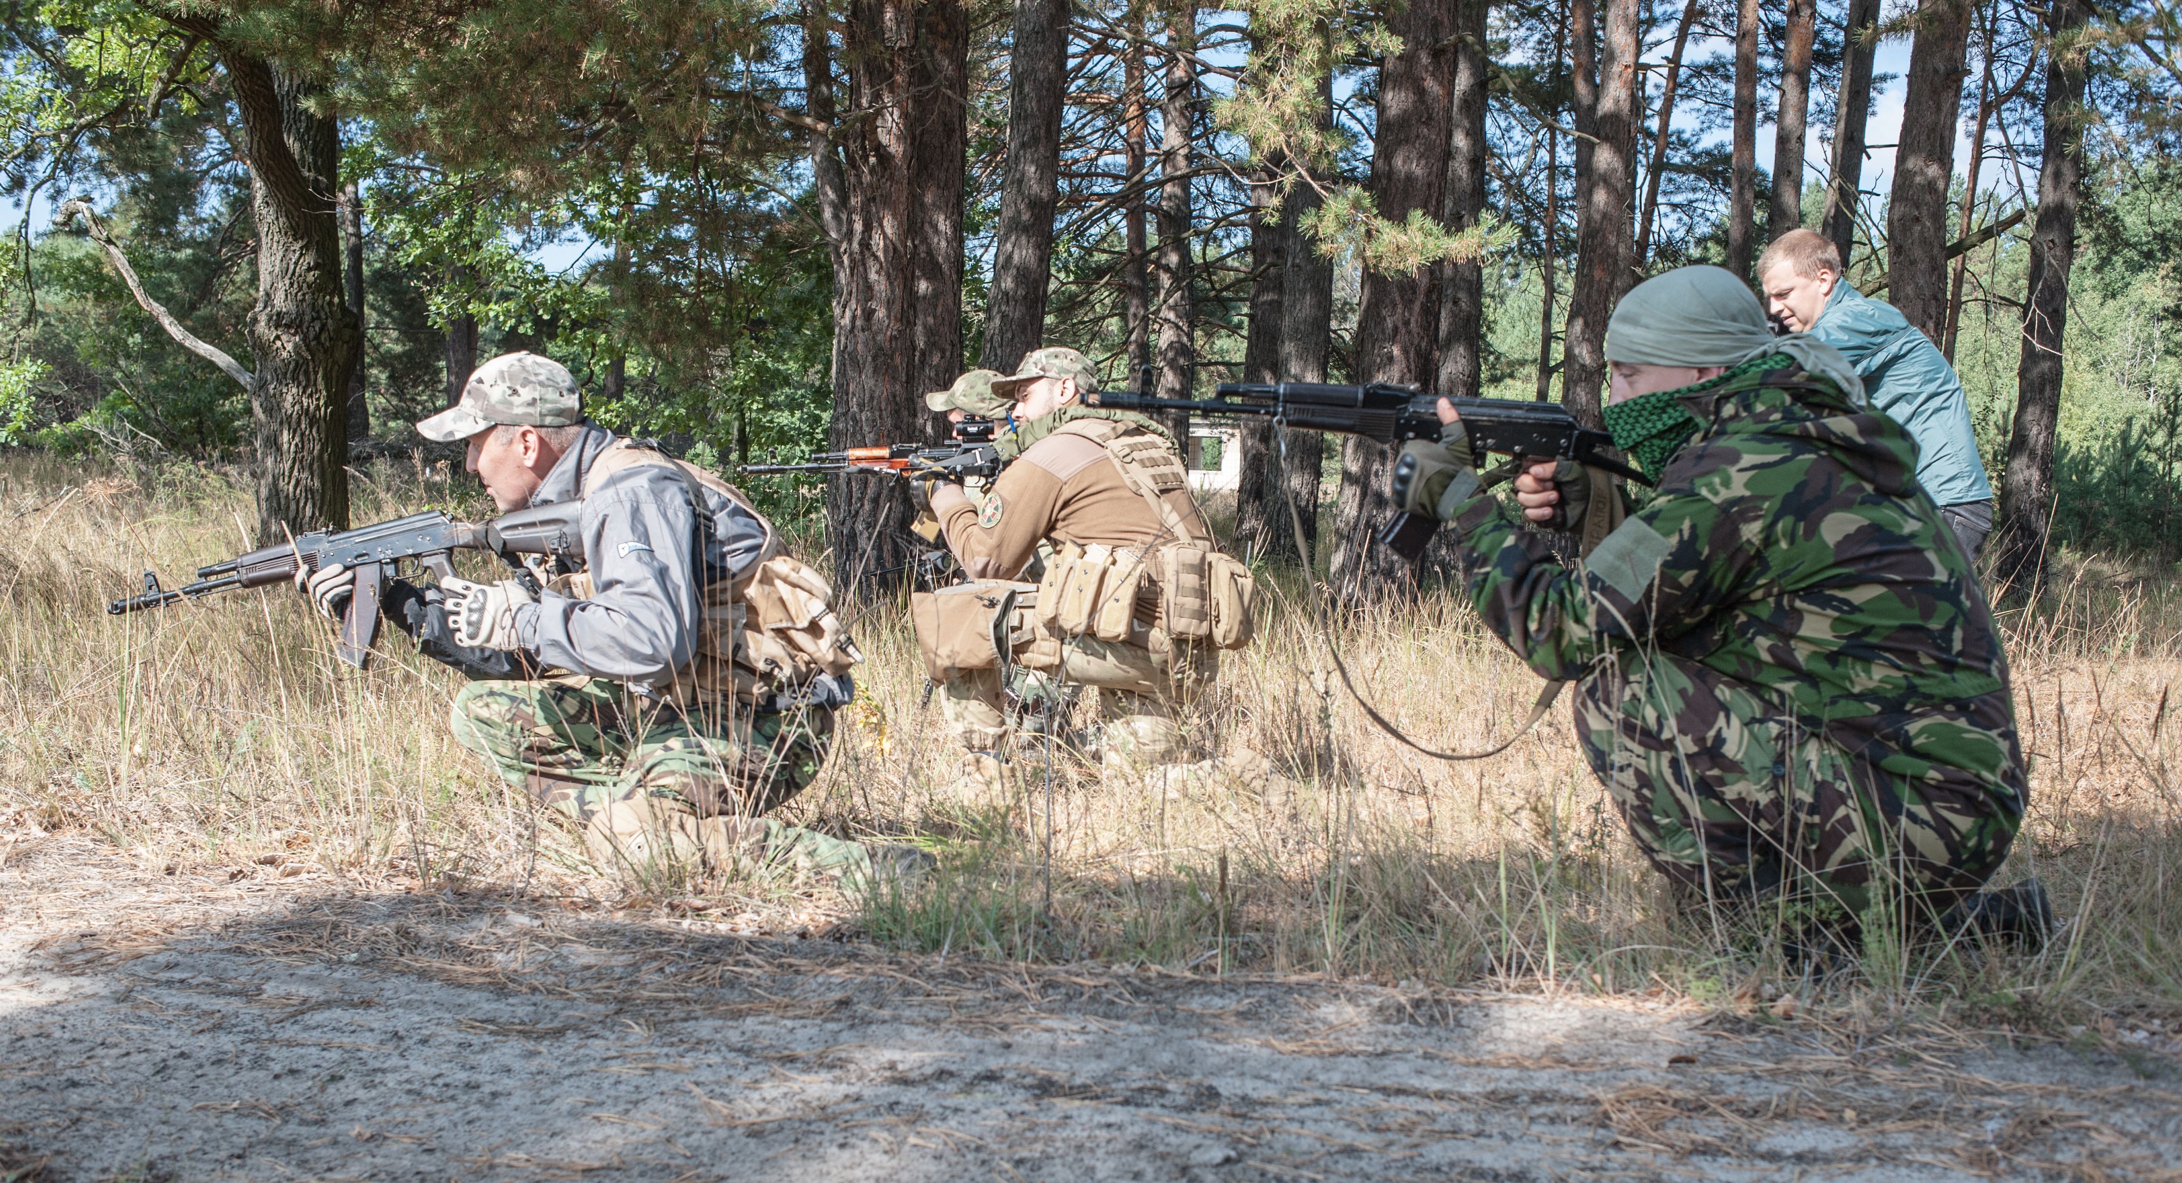
[[[1117,410],[1187,410],[1207,419],[1272,419],[1311,432],[1359,434],[1379,443],[1440,439],[1440,399],[1414,386],[1338,386],[1329,382],[1222,382],[1211,399],[1156,399],[1132,391],[1100,391],[1091,406]],[[1462,417],[1471,456],[1486,454],[1578,461],[1639,485],[1645,476],[1612,452],[1612,437],[1584,428],[1554,402],[1447,399]],[[1414,559],[1431,541],[1438,522],[1399,513],[1379,541]]]

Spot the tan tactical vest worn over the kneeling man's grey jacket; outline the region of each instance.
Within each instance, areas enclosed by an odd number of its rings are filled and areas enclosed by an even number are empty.
[[[679,703],[703,703],[733,696],[740,703],[764,703],[794,696],[818,674],[844,674],[864,655],[855,648],[840,618],[834,616],[834,589],[825,576],[786,552],[772,522],[740,489],[718,476],[666,456],[631,439],[618,439],[591,461],[583,476],[583,495],[609,476],[642,467],[674,469],[690,491],[698,530],[709,535],[711,513],[705,489],[724,495],[766,526],[766,543],[757,563],[731,583],[703,589],[705,618],[698,626],[696,657],[674,670],[670,696]],[[591,574],[578,572],[554,581],[554,592],[587,600]]]

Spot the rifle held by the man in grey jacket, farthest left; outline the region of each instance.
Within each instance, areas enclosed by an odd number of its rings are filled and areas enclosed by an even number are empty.
[[[408,570],[425,567],[439,578],[454,576],[449,561],[456,548],[489,550],[519,567],[519,554],[583,561],[578,515],[583,502],[559,502],[495,517],[493,522],[456,522],[436,509],[358,526],[353,530],[319,530],[299,535],[292,543],[251,550],[225,563],[196,567],[196,583],[159,587],[155,572],[144,572],[144,594],[113,600],[107,611],[142,611],[196,600],[216,592],[266,587],[292,581],[297,570],[321,572],[334,563],[356,572],[349,611],[340,618],[336,653],[362,670],[371,661],[371,642],[380,633],[380,596],[386,581]]]

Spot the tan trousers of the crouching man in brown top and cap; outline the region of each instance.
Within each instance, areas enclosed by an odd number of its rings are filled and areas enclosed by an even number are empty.
[[[1100,701],[1100,744],[1106,760],[1167,764],[1180,757],[1183,729],[1176,712],[1220,672],[1220,653],[1209,646],[1180,646],[1146,629],[1148,644],[1117,644],[1095,637],[1054,640],[1060,661],[1039,661],[1036,653],[1017,653],[1017,661],[1047,668],[1015,666],[1015,692],[1023,698],[1050,696],[1054,683],[1093,685]],[[1002,670],[962,670],[940,688],[940,714],[947,729],[969,751],[1002,751],[1008,740],[1008,705]]]

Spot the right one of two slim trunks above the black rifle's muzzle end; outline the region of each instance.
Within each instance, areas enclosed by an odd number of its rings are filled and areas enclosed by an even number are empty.
[[[1196,308],[1189,299],[1189,170],[1198,89],[1198,7],[1167,11],[1167,74],[1159,96],[1159,397],[1187,399],[1196,378]],[[1189,430],[1176,417],[1176,437]]]

